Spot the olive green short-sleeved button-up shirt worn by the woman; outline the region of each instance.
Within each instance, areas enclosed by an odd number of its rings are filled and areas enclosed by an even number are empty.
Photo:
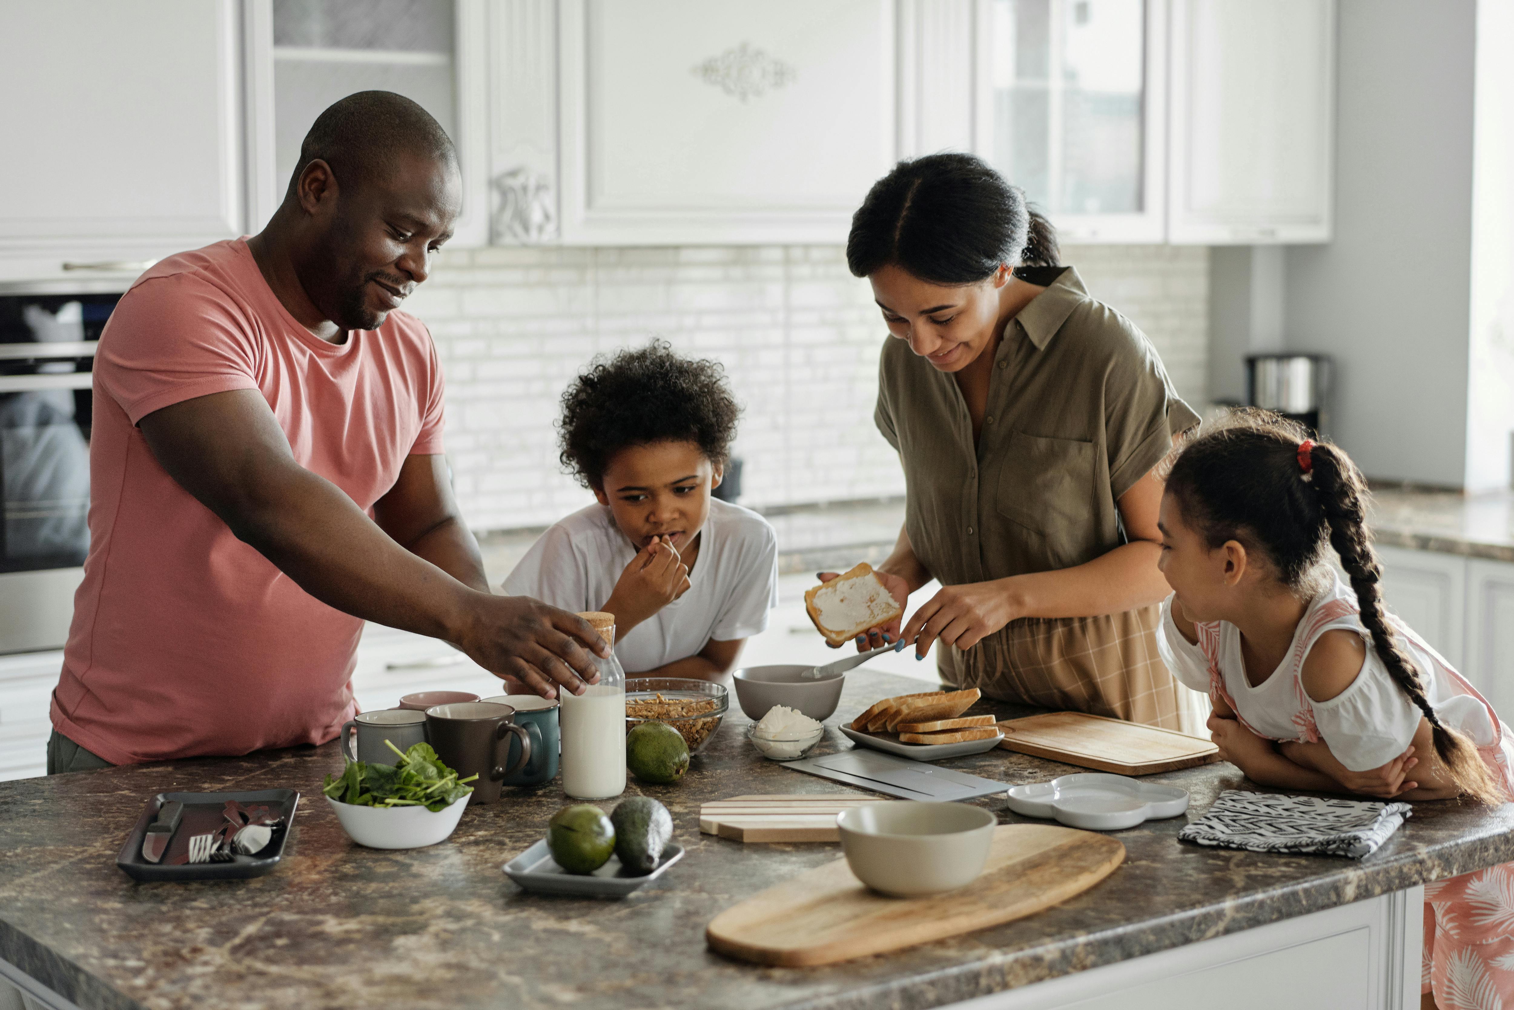
[[[1151,341],[1089,297],[1072,267],[1004,329],[983,433],[957,382],[890,338],[875,421],[899,451],[905,530],[942,584],[1070,568],[1122,541],[1116,503],[1199,416]]]

